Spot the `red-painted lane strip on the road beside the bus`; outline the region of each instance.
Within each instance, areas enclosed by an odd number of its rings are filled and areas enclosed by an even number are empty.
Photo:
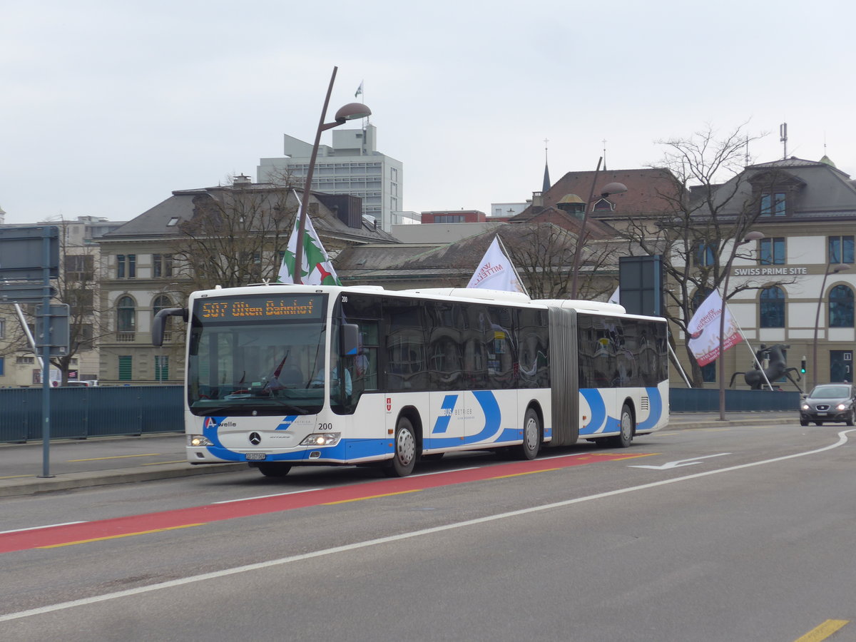
[[[143,535],[189,526],[201,526],[212,521],[234,520],[240,517],[277,513],[294,508],[308,508],[354,502],[372,497],[401,495],[453,484],[468,484],[488,479],[502,479],[517,475],[543,473],[573,466],[597,463],[599,461],[621,461],[646,457],[653,453],[633,455],[627,453],[586,453],[582,455],[558,456],[534,461],[515,461],[496,466],[468,468],[414,475],[397,479],[383,479],[376,482],[351,484],[305,492],[294,491],[265,497],[249,498],[197,506],[179,508],[158,513],[128,515],[110,520],[86,521],[77,524],[45,526],[25,531],[0,533],[0,553],[15,550],[55,548],[70,544],[84,544],[104,539],[123,538]],[[282,487],[280,487],[282,488]]]

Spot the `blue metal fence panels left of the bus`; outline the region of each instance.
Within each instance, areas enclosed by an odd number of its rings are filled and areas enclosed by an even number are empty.
[[[182,386],[51,389],[51,439],[184,430]],[[42,438],[42,389],[0,389],[0,442]]]

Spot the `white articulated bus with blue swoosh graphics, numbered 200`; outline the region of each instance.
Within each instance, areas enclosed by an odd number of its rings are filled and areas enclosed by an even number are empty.
[[[588,439],[669,420],[666,322],[615,304],[479,289],[260,285],[158,312],[187,327],[192,464],[377,465]]]

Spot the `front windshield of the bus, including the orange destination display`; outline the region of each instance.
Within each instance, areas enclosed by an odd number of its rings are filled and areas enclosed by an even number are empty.
[[[326,360],[325,309],[326,295],[319,294],[197,300],[187,360],[190,411],[318,413],[324,406],[318,373]]]

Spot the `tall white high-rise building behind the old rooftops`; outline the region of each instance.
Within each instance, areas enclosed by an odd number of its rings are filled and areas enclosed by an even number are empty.
[[[312,190],[351,194],[362,199],[363,214],[377,221],[386,232],[395,221],[393,212],[403,211],[404,172],[400,161],[377,151],[377,128],[334,129],[333,145],[318,147],[312,173]],[[257,181],[306,181],[312,144],[285,135],[286,158],[261,158]]]

